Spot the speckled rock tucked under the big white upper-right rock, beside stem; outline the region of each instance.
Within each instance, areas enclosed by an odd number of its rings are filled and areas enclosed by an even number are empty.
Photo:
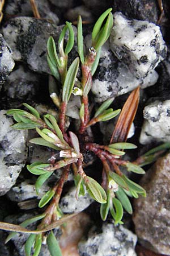
[[[86,39],[87,40],[87,39]],[[106,43],[101,51],[99,66],[93,79],[92,93],[96,102],[103,102],[111,97],[117,97],[137,88],[140,84],[144,89],[154,85],[158,73],[152,70],[146,77],[135,77],[125,64],[121,63]]]

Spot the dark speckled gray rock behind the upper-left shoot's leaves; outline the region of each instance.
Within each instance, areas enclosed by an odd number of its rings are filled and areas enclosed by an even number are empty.
[[[46,61],[46,43],[49,36],[58,42],[63,26],[56,26],[43,19],[17,17],[10,19],[3,27],[3,35],[10,45],[14,59],[24,61],[36,72],[50,73]],[[76,28],[75,36],[76,36]],[[76,50],[70,56],[76,56]],[[73,60],[72,59],[72,60]]]

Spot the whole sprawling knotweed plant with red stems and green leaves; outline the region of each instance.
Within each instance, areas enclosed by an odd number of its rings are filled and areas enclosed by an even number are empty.
[[[128,103],[126,103],[124,111],[122,110],[110,144],[96,144],[91,141],[91,137],[88,135],[89,127],[97,122],[111,120],[121,112],[120,109],[113,110],[109,108],[113,98],[101,104],[96,111],[91,111],[91,105],[88,102],[89,92],[92,87],[92,76],[99,63],[101,47],[109,38],[113,26],[111,11],[112,9],[108,9],[97,20],[92,31],[92,45],[86,55],[84,54],[83,47],[82,19],[79,16],[77,26],[79,57],[73,60],[70,67],[67,66],[68,56],[74,46],[74,30],[71,23],[66,22],[66,25],[63,27],[58,40],[58,50],[56,49],[54,39],[51,36],[48,39],[47,61],[53,75],[50,83],[54,85],[55,80],[57,84],[57,89],[50,93],[50,97],[58,109],[58,119],[52,114],[41,116],[35,108],[25,103],[23,105],[27,111],[12,109],[7,112],[8,115],[13,115],[16,121],[12,125],[14,129],[36,130],[38,137],[31,139],[32,143],[52,148],[54,152],[59,151],[60,159],[57,161],[55,158],[51,158],[50,163],[48,161],[46,163],[35,162],[27,166],[28,171],[37,176],[35,184],[37,194],[39,194],[45,181],[54,172],[62,168],[59,180],[39,201],[39,207],[44,208],[43,214],[22,222],[20,228],[16,225],[1,223],[2,229],[31,233],[25,243],[25,255],[27,256],[31,255],[32,251],[34,256],[39,255],[42,241],[46,241],[52,256],[62,255],[52,229],[67,219],[67,216],[64,217],[61,209],[59,209],[59,199],[70,170],[74,174],[76,199],[78,200],[79,195],[88,193],[92,199],[101,204],[100,214],[103,220],[107,219],[108,212],[110,212],[114,223],[122,224],[124,209],[128,213],[132,213],[129,197],[146,196],[145,189],[134,183],[121,171],[121,168],[124,167],[128,172],[145,174],[145,171],[141,168],[142,164],[152,162],[155,159],[156,152],[159,151],[149,152],[148,155],[142,156],[134,163],[122,159],[122,156],[125,155],[124,150],[136,148],[134,144],[126,142],[128,130],[126,129],[127,125],[122,122],[122,119],[127,119],[128,117],[128,120],[130,120],[127,127],[133,122],[138,102],[135,103],[133,110],[130,110],[130,106],[133,106],[131,102],[134,98],[137,98],[135,95],[138,94],[139,88],[131,94],[131,98],[127,101]],[[65,42],[66,33],[69,34],[69,37]],[[81,68],[81,79],[77,77],[79,68]],[[79,109],[79,129],[74,132],[71,131],[70,127],[66,128],[66,110],[71,94],[74,94],[75,97],[80,97],[82,102]],[[91,113],[94,113],[94,116]],[[87,151],[93,152],[103,164],[101,184],[92,179],[92,177],[87,176],[86,170],[83,168],[83,155]],[[59,220],[60,218],[62,221]],[[28,225],[40,220],[41,222],[37,225],[35,231],[25,229]],[[46,233],[48,230],[50,232]],[[6,242],[14,237],[15,234],[15,232],[10,233]]]

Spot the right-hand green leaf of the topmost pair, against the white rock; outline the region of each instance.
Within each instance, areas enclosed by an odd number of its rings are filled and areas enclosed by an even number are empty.
[[[104,27],[100,30],[99,34],[97,35],[96,42],[92,44],[96,51],[103,46],[103,44],[108,40],[109,35],[111,34],[111,30],[113,27],[113,15],[109,13],[107,22],[105,23]]]

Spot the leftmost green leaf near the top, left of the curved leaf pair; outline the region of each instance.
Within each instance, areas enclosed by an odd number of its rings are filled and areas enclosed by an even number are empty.
[[[56,65],[57,68],[61,67],[61,63],[59,61],[57,51],[56,51],[56,44],[52,36],[50,36],[48,39],[47,51],[48,51],[48,56],[50,58],[50,61],[53,63],[53,65]]]

